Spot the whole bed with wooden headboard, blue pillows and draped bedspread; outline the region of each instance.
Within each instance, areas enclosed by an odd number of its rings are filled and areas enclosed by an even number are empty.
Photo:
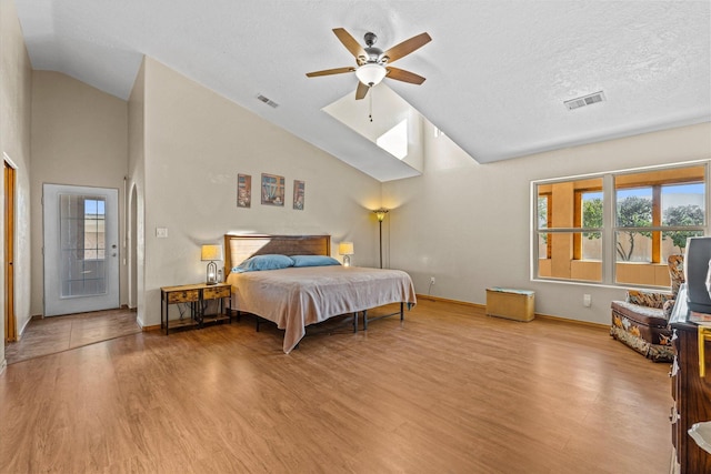
[[[403,271],[321,264],[332,260],[329,259],[330,235],[228,234],[224,248],[227,282],[232,286],[231,310],[254,314],[284,330],[287,354],[306,335],[308,325],[353,314],[357,330],[358,315],[362,314],[367,330],[368,322],[374,320],[368,319],[368,310],[400,303],[400,311],[387,316],[399,314],[403,319],[404,305],[410,307],[417,303],[412,280]],[[258,271],[244,270],[260,259],[258,255],[270,264]],[[273,255],[278,258],[272,259]],[[307,263],[306,266],[271,265],[272,260],[281,263],[281,256]],[[319,264],[311,265],[311,262]]]

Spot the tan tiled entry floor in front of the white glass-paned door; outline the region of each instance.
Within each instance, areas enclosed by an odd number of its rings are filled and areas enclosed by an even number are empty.
[[[32,320],[22,339],[6,344],[8,364],[141,332],[136,312],[121,309]]]

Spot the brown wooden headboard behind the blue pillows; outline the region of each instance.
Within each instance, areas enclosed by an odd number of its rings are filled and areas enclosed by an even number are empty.
[[[253,255],[331,255],[331,235],[224,235],[224,274]]]

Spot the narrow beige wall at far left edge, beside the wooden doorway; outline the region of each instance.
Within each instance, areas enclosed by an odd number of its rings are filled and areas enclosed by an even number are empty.
[[[18,332],[30,321],[30,261],[31,251],[23,242],[30,240],[30,103],[32,70],[24,48],[14,3],[0,0],[0,150],[17,167],[14,240],[14,313]],[[4,182],[0,182],[0,200]],[[0,235],[4,224],[0,219]],[[2,240],[2,268],[6,268]],[[4,289],[4,272],[0,272],[0,286]],[[4,291],[0,291],[0,307],[4,307]],[[0,324],[0,339],[4,341],[4,324]],[[6,366],[4,343],[0,345],[0,372]]]

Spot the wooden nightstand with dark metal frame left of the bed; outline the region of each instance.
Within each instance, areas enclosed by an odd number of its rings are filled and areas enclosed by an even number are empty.
[[[224,312],[224,299],[231,299],[232,286],[229,283],[209,285],[207,283],[188,284],[179,286],[162,286],[160,289],[160,327],[166,329],[166,335],[170,327],[204,327],[204,324],[217,324],[222,321],[232,323],[232,317]],[[206,302],[218,300],[218,312],[204,314]],[[170,321],[170,305],[188,303],[190,305],[189,317]],[[163,325],[164,321],[164,325]]]

